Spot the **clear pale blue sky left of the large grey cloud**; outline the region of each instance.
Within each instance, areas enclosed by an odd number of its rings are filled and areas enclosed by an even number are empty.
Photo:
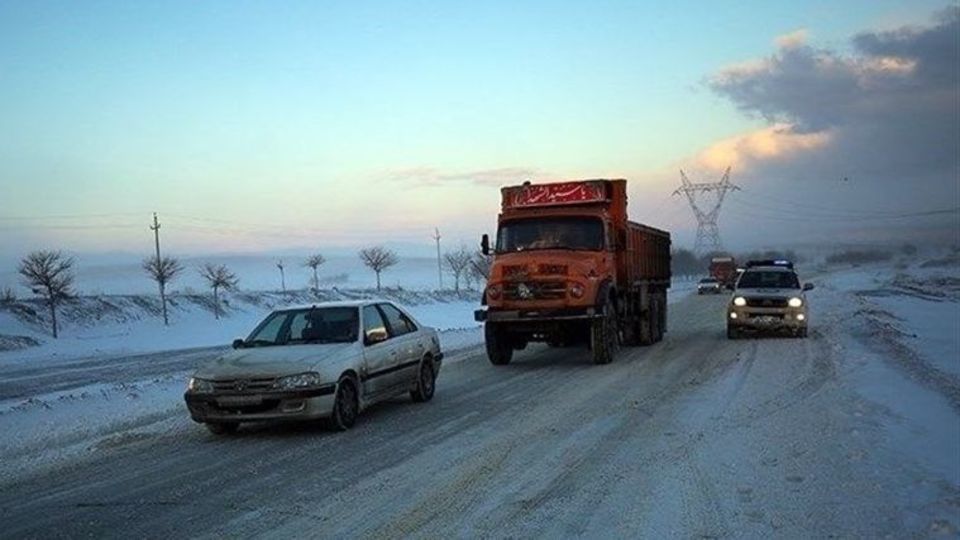
[[[154,210],[185,252],[472,241],[497,171],[625,176],[639,205],[768,124],[711,74],[945,5],[0,2],[0,250],[138,250]]]

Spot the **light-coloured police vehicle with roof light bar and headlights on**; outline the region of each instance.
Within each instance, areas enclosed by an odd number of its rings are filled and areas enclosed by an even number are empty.
[[[727,337],[744,332],[787,331],[807,337],[806,291],[788,261],[753,261],[740,274],[727,309]]]

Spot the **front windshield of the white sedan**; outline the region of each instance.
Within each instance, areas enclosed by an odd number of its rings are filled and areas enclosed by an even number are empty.
[[[251,347],[357,341],[355,307],[288,309],[270,314],[244,342]]]

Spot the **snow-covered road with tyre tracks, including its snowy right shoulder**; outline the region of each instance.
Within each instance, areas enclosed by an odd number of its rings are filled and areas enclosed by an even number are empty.
[[[815,290],[806,340],[728,341],[726,298],[688,296],[663,343],[608,366],[531,346],[495,368],[467,349],[432,402],[342,434],[217,438],[170,402],[8,469],[0,535],[955,535],[957,409],[854,335],[852,294]]]

